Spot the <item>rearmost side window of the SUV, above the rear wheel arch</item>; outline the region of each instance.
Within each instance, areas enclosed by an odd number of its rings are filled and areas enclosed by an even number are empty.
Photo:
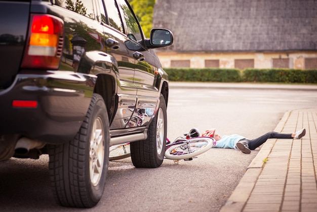
[[[74,11],[78,14],[87,16],[91,19],[95,19],[95,9],[93,5],[93,0],[65,0],[57,1],[57,5],[66,8],[68,10]]]

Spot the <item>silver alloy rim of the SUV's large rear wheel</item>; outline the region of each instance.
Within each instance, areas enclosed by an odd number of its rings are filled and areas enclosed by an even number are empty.
[[[103,124],[100,117],[98,117],[94,121],[89,150],[90,180],[94,186],[98,185],[101,178],[104,161],[104,151]]]

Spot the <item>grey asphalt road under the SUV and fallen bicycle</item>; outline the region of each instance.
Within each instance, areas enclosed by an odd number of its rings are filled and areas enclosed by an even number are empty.
[[[288,110],[314,108],[316,91],[171,88],[168,138],[192,127],[201,132],[254,138],[271,131]],[[136,169],[130,158],[111,161],[104,195],[92,209],[56,205],[50,189],[48,157],[0,163],[2,211],[219,211],[257,150],[250,155],[211,149],[192,161]]]

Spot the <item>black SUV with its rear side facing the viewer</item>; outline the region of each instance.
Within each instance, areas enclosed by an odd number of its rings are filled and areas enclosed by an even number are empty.
[[[0,160],[49,154],[63,206],[93,207],[109,147],[130,142],[135,167],[166,145],[168,76],[125,0],[0,1]]]

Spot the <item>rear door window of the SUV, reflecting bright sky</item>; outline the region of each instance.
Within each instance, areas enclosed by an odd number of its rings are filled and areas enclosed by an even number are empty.
[[[123,32],[122,21],[120,18],[120,13],[118,11],[117,5],[114,0],[104,1],[107,11],[107,16],[109,19],[109,25],[113,28]]]

